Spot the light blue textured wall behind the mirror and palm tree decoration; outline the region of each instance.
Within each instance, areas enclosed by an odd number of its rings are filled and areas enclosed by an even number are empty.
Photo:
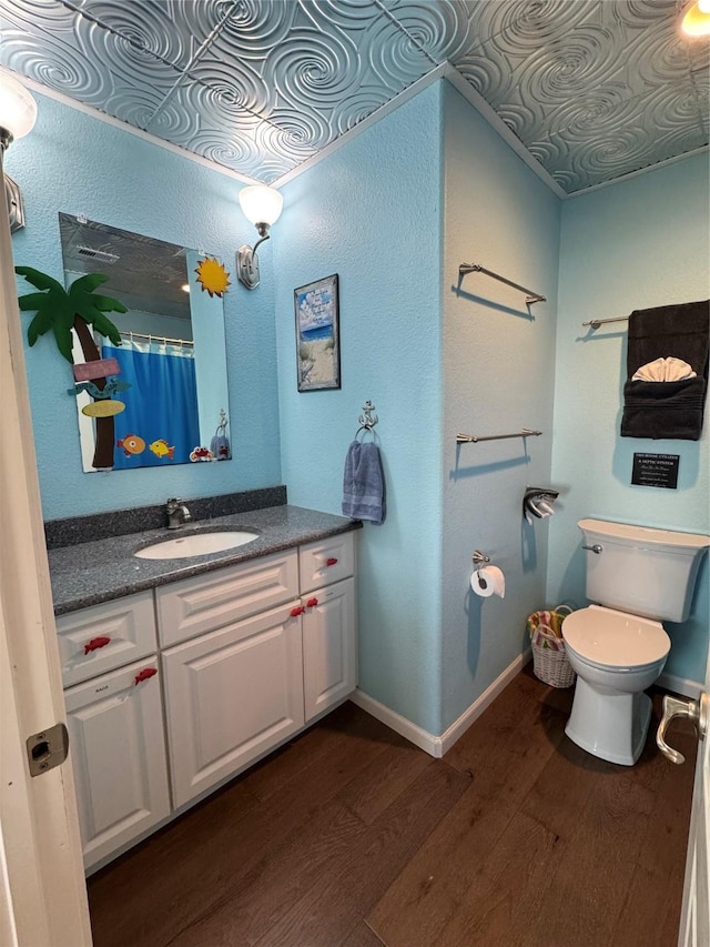
[[[23,190],[27,215],[27,228],[12,241],[16,264],[36,266],[63,282],[58,222],[63,211],[205,250],[234,273],[235,249],[256,236],[240,211],[237,181],[52,99],[36,99],[37,125],[12,144],[6,162]],[[287,230],[287,214],[280,228]],[[44,518],[281,483],[268,244],[260,259],[262,285],[248,292],[233,275],[224,302],[235,459],[230,463],[84,474],[77,407],[67,395],[71,370],[51,336],[28,349]],[[20,293],[31,290],[18,280]],[[23,315],[23,324],[30,319]]]

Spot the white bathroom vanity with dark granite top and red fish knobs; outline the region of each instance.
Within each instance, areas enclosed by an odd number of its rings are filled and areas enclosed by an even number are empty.
[[[95,870],[351,694],[355,530],[293,506],[216,554],[140,558],[179,531],[50,548],[84,865]]]

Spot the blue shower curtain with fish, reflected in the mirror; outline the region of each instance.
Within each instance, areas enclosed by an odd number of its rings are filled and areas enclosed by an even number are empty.
[[[120,347],[105,343],[102,357],[115,359],[119,379],[131,385],[116,395],[125,411],[115,415],[113,469],[189,463],[200,444],[192,347],[126,339]]]

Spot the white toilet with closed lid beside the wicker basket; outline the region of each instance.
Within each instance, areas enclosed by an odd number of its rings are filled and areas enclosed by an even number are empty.
[[[661,621],[684,622],[710,537],[604,520],[580,520],[587,598],[562,624],[577,673],[565,728],[582,749],[632,766],[651,716],[643,691],[670,651]]]

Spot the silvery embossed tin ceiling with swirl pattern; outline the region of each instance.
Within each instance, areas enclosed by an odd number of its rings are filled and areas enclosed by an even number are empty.
[[[0,0],[0,63],[274,183],[453,64],[566,193],[707,145],[681,0]]]

